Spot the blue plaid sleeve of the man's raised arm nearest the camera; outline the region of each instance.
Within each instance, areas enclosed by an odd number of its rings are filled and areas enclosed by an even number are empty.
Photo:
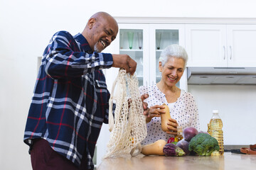
[[[111,67],[112,55],[97,52],[88,54],[81,52],[80,48],[73,36],[64,31],[53,35],[44,52],[46,74],[53,79],[80,77],[87,72]]]

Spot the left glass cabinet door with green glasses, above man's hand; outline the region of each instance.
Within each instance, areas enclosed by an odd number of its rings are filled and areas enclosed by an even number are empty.
[[[139,86],[146,84],[149,77],[149,26],[138,24],[137,26],[119,24],[119,54],[129,55],[137,62],[136,75]]]

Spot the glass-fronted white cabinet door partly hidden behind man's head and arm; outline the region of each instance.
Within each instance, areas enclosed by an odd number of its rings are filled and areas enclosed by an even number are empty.
[[[139,86],[149,81],[149,24],[119,23],[119,32],[112,42],[112,54],[125,54],[137,62]],[[119,69],[106,69],[108,89],[111,89]]]

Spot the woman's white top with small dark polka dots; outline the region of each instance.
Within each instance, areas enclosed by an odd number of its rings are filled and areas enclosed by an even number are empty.
[[[182,128],[194,127],[199,131],[199,117],[198,107],[193,96],[181,89],[181,96],[175,103],[167,103],[165,94],[163,94],[159,88],[154,84],[153,86],[140,86],[140,94],[149,94],[149,98],[146,98],[145,102],[148,103],[148,107],[155,105],[162,105],[166,103],[169,106],[171,118],[175,119],[178,125]],[[174,135],[169,135],[161,130],[161,118],[154,117],[147,125],[147,135],[142,141],[142,145],[148,145],[156,142],[156,140],[169,140]]]

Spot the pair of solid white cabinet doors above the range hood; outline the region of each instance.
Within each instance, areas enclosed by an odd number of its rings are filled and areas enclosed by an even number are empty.
[[[256,25],[186,24],[189,67],[255,67]]]

